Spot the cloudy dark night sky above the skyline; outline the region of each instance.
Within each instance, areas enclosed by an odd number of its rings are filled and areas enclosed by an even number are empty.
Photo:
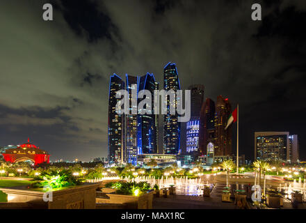
[[[42,20],[44,3],[54,21]],[[51,160],[104,157],[110,75],[153,72],[163,86],[172,61],[182,89],[239,102],[246,157],[255,131],[289,131],[305,160],[305,30],[303,0],[1,0],[0,145],[30,137]]]

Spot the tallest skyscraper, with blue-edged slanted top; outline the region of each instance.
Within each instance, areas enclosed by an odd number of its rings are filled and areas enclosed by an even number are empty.
[[[163,89],[180,90],[179,77],[175,63],[168,63],[163,68]],[[177,100],[175,99],[177,107]],[[163,151],[166,154],[179,153],[181,126],[178,123],[178,114],[170,114],[170,97],[167,98],[167,114],[163,117]]]

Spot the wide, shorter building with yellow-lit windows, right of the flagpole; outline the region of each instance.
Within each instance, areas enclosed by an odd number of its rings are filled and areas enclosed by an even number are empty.
[[[297,145],[297,137],[293,144]],[[297,148],[294,150],[296,159]],[[255,132],[255,160],[290,162],[290,158],[289,132]]]

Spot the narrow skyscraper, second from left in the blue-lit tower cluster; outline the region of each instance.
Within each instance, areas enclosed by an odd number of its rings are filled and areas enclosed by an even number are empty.
[[[138,95],[138,77],[126,75],[127,86],[126,90],[129,92],[129,114],[125,115],[126,125],[126,148],[125,160],[128,163],[137,164],[137,114],[132,114],[132,110],[137,111],[137,95]],[[133,92],[136,97],[132,97]]]

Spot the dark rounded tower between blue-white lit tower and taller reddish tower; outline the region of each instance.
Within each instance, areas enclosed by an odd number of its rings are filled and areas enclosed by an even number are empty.
[[[200,155],[207,155],[209,151],[213,153],[215,144],[215,102],[207,98],[202,104],[200,114]]]

